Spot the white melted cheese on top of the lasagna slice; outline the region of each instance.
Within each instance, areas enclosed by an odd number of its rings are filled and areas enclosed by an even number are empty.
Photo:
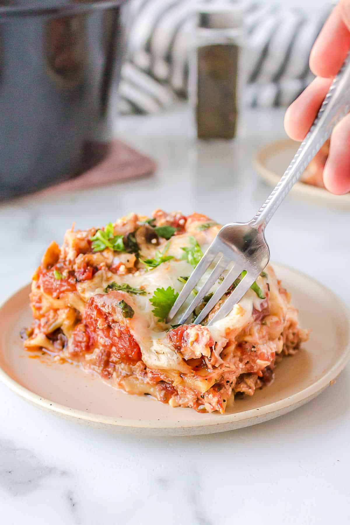
[[[122,231],[124,223],[120,223],[118,227],[120,231]],[[191,232],[191,234],[196,237],[203,252],[216,235],[218,228],[219,226],[199,232],[195,229]],[[69,233],[70,232],[68,232],[68,234]],[[71,236],[73,237],[73,234],[71,234]],[[68,239],[68,237],[66,234],[65,240],[68,245],[72,244],[73,240],[75,242],[77,241],[76,235],[72,239]],[[68,243],[68,240],[71,240],[71,243]],[[69,305],[82,313],[85,304],[89,299],[97,293],[103,293],[104,289],[113,281],[120,285],[128,283],[134,288],[144,289],[146,295],[128,294],[127,298],[128,303],[135,312],[134,317],[128,319],[128,325],[133,337],[140,346],[143,362],[151,369],[159,369],[163,371],[173,370],[177,371],[177,373],[193,374],[192,369],[190,369],[183,359],[183,355],[180,352],[177,352],[171,342],[168,341],[165,332],[166,325],[157,321],[152,313],[154,307],[150,302],[150,298],[153,296],[153,293],[157,288],[167,288],[170,286],[177,292],[182,290],[184,285],[183,282],[178,280],[178,277],[187,277],[193,271],[193,267],[188,264],[186,260],[182,259],[184,256],[182,248],[190,245],[191,242],[188,233],[174,236],[170,241],[162,239],[161,246],[150,247],[150,249],[153,249],[153,255],[151,254],[151,256],[154,256],[155,250],[158,249],[163,251],[167,248],[166,255],[172,256],[173,259],[163,262],[156,268],[148,271],[141,269],[135,273],[121,275],[113,274],[106,267],[103,267],[96,272],[92,279],[77,283],[78,293],[69,292],[65,294],[64,298],[62,297],[60,299],[52,299],[48,296],[45,297],[45,295],[44,297],[51,304],[51,307],[64,308]],[[99,257],[101,258],[102,255],[99,254]],[[126,262],[125,257],[129,260],[130,255],[120,254],[118,256],[117,254],[114,256],[115,259],[118,258],[119,261]],[[132,255],[132,257],[134,256]],[[212,267],[209,267],[203,278],[199,281],[198,288],[200,288],[207,280],[211,269]],[[264,289],[266,286],[266,280],[259,277],[257,282],[260,288]],[[286,308],[284,304],[285,301],[284,298],[280,296],[278,283],[272,268],[269,268],[269,284],[271,313],[275,316],[283,316]],[[220,283],[218,281],[212,291],[215,291],[219,285]],[[193,296],[190,296],[187,299],[187,304],[189,304],[192,299]],[[216,351],[218,354],[221,349],[224,348],[229,339],[232,340],[236,334],[251,322],[253,308],[260,311],[262,308],[262,302],[263,300],[259,299],[257,294],[249,289],[246,295],[240,300],[239,304],[236,304],[234,309],[232,309],[225,319],[216,321],[207,327],[211,333],[211,337],[213,337],[216,343]],[[186,308],[186,303],[183,308]],[[60,325],[63,325],[64,322],[65,320],[62,317],[57,321]],[[176,322],[176,320],[173,322]],[[71,327],[70,325],[68,326],[68,322],[66,324],[66,331],[69,333]],[[47,344],[41,344],[47,346]]]

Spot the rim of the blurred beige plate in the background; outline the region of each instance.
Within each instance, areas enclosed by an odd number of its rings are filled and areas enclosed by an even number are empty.
[[[291,144],[298,145],[300,142],[292,139],[279,139],[269,142],[258,150],[256,155],[253,158],[253,165],[256,169],[259,176],[267,182],[269,185],[276,185],[281,175],[271,170],[266,166],[266,159],[271,154],[277,153]],[[292,159],[291,159],[292,160]],[[287,166],[286,166],[287,168]],[[313,186],[312,184],[305,184],[301,181],[298,181],[294,184],[291,189],[291,192],[295,195],[299,193],[305,198],[312,198],[317,201],[323,201],[328,204],[335,204],[337,206],[349,206],[350,207],[350,193],[345,193],[344,195],[334,195],[333,193],[328,192],[324,188]]]

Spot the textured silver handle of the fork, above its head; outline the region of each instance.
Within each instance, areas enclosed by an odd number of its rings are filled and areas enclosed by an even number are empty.
[[[292,162],[284,172],[277,186],[275,186],[274,190],[263,203],[258,213],[251,219],[249,223],[251,226],[263,232],[284,197],[296,181],[299,180],[306,166],[314,158],[317,151],[319,151],[325,141],[330,138],[335,125],[349,110],[350,51],[344,60],[343,66],[334,78],[309,133],[307,133],[305,139],[300,144]]]

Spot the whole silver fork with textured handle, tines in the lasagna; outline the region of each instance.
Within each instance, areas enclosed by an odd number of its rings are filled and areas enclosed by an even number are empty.
[[[264,230],[269,220],[284,197],[291,190],[292,186],[299,180],[306,166],[313,159],[317,151],[319,151],[324,142],[330,138],[337,122],[349,111],[350,53],[347,55],[338,75],[333,80],[309,133],[307,133],[277,186],[275,186],[274,190],[263,203],[258,213],[248,223],[226,224],[226,226],[220,229],[206,253],[189,276],[184,288],[179,293],[173,308],[169,312],[168,320],[174,318],[189,294],[198,284],[199,279],[203,277],[205,271],[213,262],[216,262],[216,265],[211,271],[207,281],[200,288],[195,298],[181,314],[181,318],[177,322],[180,324],[186,322],[189,315],[210,292],[211,287],[216,283],[222,272],[230,267],[226,277],[224,277],[224,280],[222,280],[203,310],[200,311],[194,323],[198,324],[203,321],[236,279],[240,279],[239,282],[237,281],[238,283],[235,283],[237,286],[232,290],[225,302],[222,303],[222,306],[208,324],[227,316],[269,262],[270,250],[264,235]],[[244,270],[246,274],[242,274]]]

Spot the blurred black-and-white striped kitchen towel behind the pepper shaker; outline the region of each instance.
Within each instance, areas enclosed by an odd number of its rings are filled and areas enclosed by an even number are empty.
[[[235,0],[206,0],[206,4]],[[119,110],[154,113],[187,96],[188,44],[204,0],[132,0],[128,59],[122,68]],[[244,2],[248,106],[288,106],[310,83],[312,45],[330,13]],[[192,31],[193,32],[193,31]]]

